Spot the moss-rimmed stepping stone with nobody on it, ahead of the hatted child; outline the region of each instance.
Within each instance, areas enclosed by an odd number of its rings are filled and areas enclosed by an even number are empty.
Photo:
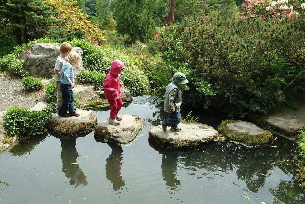
[[[251,146],[267,145],[273,140],[273,134],[270,131],[242,120],[224,120],[217,130],[231,141]]]

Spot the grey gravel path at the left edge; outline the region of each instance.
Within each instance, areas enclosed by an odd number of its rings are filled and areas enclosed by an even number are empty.
[[[26,91],[21,78],[0,73],[0,111],[6,112],[12,106],[30,109],[40,101],[45,101],[45,90]]]

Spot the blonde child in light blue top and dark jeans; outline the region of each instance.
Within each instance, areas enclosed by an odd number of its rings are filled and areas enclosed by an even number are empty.
[[[63,94],[63,103],[61,104],[58,115],[59,116],[79,116],[74,110],[73,103],[73,91],[74,85],[74,70],[77,67],[81,56],[77,52],[70,52],[66,56],[66,62],[63,63],[62,70],[60,72],[60,91]],[[69,113],[67,111],[69,110]]]

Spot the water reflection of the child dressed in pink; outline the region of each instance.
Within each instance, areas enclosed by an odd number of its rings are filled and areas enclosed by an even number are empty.
[[[111,154],[106,159],[106,178],[113,184],[113,190],[117,191],[125,185],[120,172],[123,149],[121,145],[112,142],[107,144],[111,147]]]

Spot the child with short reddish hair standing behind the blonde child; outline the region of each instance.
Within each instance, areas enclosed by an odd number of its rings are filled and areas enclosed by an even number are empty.
[[[69,54],[69,52],[72,51],[72,45],[70,45],[67,42],[63,42],[59,49],[60,49],[60,55],[57,57],[54,67],[54,73],[55,73],[55,86],[57,91],[57,102],[56,102],[56,110],[58,111],[59,107],[63,103],[63,94],[60,91],[60,72],[61,68],[63,67],[63,63],[66,62],[66,56]]]

